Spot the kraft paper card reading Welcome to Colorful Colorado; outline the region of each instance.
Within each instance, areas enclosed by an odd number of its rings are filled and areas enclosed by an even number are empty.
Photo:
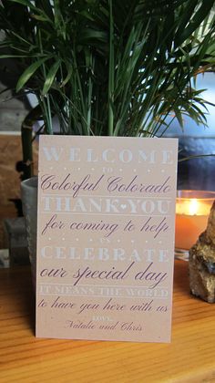
[[[178,140],[41,136],[36,336],[169,342]]]

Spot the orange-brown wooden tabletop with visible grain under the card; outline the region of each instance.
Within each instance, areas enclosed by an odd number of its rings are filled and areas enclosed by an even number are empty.
[[[215,382],[215,305],[189,295],[176,261],[171,344],[35,337],[28,267],[0,270],[0,382]]]

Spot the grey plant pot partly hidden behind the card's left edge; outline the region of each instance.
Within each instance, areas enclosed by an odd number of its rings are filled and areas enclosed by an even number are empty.
[[[27,246],[34,287],[36,287],[37,186],[37,177],[32,177],[21,182],[23,212],[26,219]]]

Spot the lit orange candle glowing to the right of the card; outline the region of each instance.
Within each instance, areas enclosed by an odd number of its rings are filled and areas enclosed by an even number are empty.
[[[178,191],[175,247],[190,249],[207,227],[214,191]]]

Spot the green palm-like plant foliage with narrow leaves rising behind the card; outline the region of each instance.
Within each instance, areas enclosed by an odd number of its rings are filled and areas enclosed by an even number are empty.
[[[37,118],[47,134],[55,116],[60,134],[143,138],[161,137],[169,114],[205,123],[195,78],[214,65],[213,4],[2,0],[0,58],[15,61],[16,91],[38,102],[22,127],[27,177]]]

